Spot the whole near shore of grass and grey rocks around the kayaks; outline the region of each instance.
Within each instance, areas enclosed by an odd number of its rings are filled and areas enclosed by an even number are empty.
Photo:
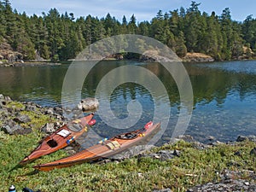
[[[26,166],[17,166],[42,137],[63,123],[61,108],[42,108],[32,102],[0,95],[1,191],[255,191],[256,136],[239,136],[221,143],[209,137],[198,143],[181,136],[160,147],[131,148],[110,159],[51,172],[32,166],[58,160],[79,150],[74,143]]]

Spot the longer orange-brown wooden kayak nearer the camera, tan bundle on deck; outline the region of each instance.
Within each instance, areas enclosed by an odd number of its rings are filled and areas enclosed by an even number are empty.
[[[86,148],[78,154],[73,154],[61,160],[55,160],[50,163],[33,166],[40,171],[50,171],[55,168],[62,168],[82,164],[91,160],[98,160],[109,157],[113,154],[118,154],[131,146],[138,143],[146,142],[150,137],[154,136],[156,131],[160,129],[160,123],[154,124],[148,122],[143,129],[127,132],[110,139],[102,140],[98,144]]]

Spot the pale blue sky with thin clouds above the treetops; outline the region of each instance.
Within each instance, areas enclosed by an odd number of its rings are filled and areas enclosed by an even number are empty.
[[[201,3],[199,9],[209,15],[215,11],[221,15],[225,8],[230,8],[233,20],[245,20],[247,15],[256,17],[255,0],[196,0]],[[137,21],[150,21],[159,10],[164,13],[183,7],[189,8],[189,0],[10,0],[12,7],[18,12],[27,15],[41,15],[48,13],[49,9],[56,8],[60,13],[73,13],[75,17],[92,15],[98,18],[105,17],[108,13],[122,20],[123,15],[127,20],[134,14]]]

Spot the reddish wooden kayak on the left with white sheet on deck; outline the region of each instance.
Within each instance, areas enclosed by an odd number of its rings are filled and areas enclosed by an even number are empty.
[[[67,125],[61,126],[54,133],[44,138],[38,148],[35,148],[31,154],[20,161],[20,165],[36,160],[45,154],[51,154],[61,148],[67,147],[70,143],[73,143],[77,137],[88,131],[88,125],[94,125],[96,123],[95,119],[92,119],[93,116],[94,114],[91,113],[88,116],[81,119],[75,119],[67,123]]]

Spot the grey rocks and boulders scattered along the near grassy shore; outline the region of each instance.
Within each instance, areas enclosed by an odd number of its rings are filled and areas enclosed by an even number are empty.
[[[86,100],[84,100],[86,101]],[[90,101],[91,102],[91,101]],[[90,103],[89,102],[89,103]],[[79,103],[79,108],[85,108],[84,103]],[[90,103],[91,104],[91,103]],[[88,107],[88,106],[87,106]],[[41,119],[50,119],[49,122],[41,124],[38,127],[38,122]],[[8,135],[26,135],[31,134],[33,131],[39,130],[44,133],[44,136],[49,135],[55,131],[58,127],[65,124],[66,120],[62,116],[62,109],[60,107],[55,108],[43,108],[33,102],[14,102],[9,96],[3,96],[0,94],[0,129]],[[242,142],[253,142],[256,143],[256,136],[237,137],[236,142],[233,143],[220,143],[218,141],[212,141],[212,143],[204,144],[198,143],[191,136],[181,136],[175,139],[174,143],[178,141],[184,141],[190,143],[195,150],[207,151],[210,148],[218,147],[219,145],[239,145]],[[166,143],[170,145],[172,143]],[[256,162],[256,145],[254,148],[249,148],[249,155],[254,163]],[[68,154],[76,153],[80,150],[79,143],[74,143],[73,145],[66,148]],[[137,163],[143,162],[145,158],[150,158],[152,160],[160,160],[166,162],[168,160],[173,160],[175,158],[180,158],[183,155],[183,149],[166,149],[165,145],[163,149],[155,150],[154,146],[137,146],[130,148],[123,154],[117,154],[106,160],[97,160],[96,164],[106,164],[106,163],[117,163],[135,158]],[[240,150],[232,152],[235,156],[242,158],[243,154]],[[230,161],[233,166],[239,167],[239,162],[236,160]],[[247,177],[245,177],[247,175]],[[192,173],[188,173],[188,177],[195,177]],[[256,191],[256,174],[252,170],[240,169],[237,171],[232,171],[229,169],[224,169],[222,172],[216,172],[218,179],[212,180],[209,183],[204,183],[197,186],[191,186],[187,189],[188,192],[192,191]],[[172,189],[155,189],[157,191],[172,191]]]

